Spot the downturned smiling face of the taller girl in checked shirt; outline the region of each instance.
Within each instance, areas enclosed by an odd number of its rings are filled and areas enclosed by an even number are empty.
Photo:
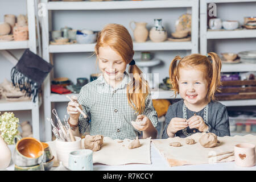
[[[116,79],[125,72],[126,62],[111,47],[100,47],[98,52],[98,67],[105,77]]]

